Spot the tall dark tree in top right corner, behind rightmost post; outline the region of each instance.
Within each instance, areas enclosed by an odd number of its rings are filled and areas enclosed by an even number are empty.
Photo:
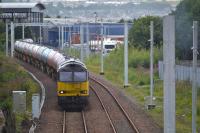
[[[199,7],[199,0],[183,0],[172,13],[176,18],[176,56],[179,59],[192,59],[192,23],[200,22]]]

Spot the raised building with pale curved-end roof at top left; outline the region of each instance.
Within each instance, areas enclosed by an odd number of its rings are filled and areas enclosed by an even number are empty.
[[[43,22],[42,3],[0,3],[0,21],[15,23]]]

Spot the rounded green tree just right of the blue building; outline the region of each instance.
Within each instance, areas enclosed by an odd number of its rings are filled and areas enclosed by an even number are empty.
[[[129,42],[137,48],[148,49],[150,47],[150,21],[154,21],[154,42],[155,46],[162,45],[162,20],[160,17],[146,16],[133,22],[129,31]]]

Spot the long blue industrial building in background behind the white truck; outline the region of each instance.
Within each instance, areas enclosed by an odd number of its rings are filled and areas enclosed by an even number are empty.
[[[56,25],[56,24],[55,24]],[[74,23],[64,24],[64,43],[80,44],[80,26],[84,27],[84,42],[87,41],[87,28],[89,33],[89,40],[98,41],[101,37],[101,23]],[[132,24],[128,25],[129,29]],[[111,38],[112,40],[124,40],[124,24],[123,23],[103,23],[104,38]],[[60,33],[61,35],[61,33]],[[53,27],[48,29],[48,44],[58,46],[59,29]]]

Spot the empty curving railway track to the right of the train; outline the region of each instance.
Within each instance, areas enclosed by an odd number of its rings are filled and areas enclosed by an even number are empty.
[[[126,117],[128,123],[130,124],[132,130],[135,132],[135,133],[140,133],[139,132],[139,129],[136,127],[136,125],[134,124],[134,122],[130,119],[129,115],[127,114],[127,112],[125,111],[125,109],[123,108],[123,106],[119,103],[119,101],[117,100],[117,98],[111,93],[111,91],[103,84],[101,83],[100,81],[96,80],[95,78],[93,77],[90,77],[90,80],[92,80],[95,84],[98,84],[101,86],[101,89],[104,89],[112,98],[113,100],[115,101],[115,103],[117,104],[118,108],[121,110],[121,112],[123,113],[123,115]],[[110,121],[110,125],[112,126],[112,129],[113,129],[113,132],[114,133],[117,133],[117,129],[116,129],[116,126],[114,125],[114,122],[112,121],[111,119],[111,116],[110,114],[108,113],[104,103],[102,102],[103,100],[101,99],[101,97],[99,96],[98,92],[95,90],[95,87],[90,85],[90,88],[94,91],[94,93],[96,94],[96,96],[98,97],[99,101],[101,102],[101,105],[103,107],[103,109],[105,110],[106,112],[106,115]]]

